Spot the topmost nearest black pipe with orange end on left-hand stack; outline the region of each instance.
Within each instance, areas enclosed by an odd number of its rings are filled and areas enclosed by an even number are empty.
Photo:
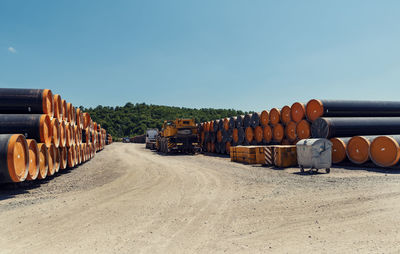
[[[49,89],[0,88],[1,114],[54,114],[54,98]]]

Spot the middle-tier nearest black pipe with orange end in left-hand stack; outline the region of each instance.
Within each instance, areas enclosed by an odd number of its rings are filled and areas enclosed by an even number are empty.
[[[0,134],[24,134],[28,139],[51,145],[53,128],[48,115],[0,114]]]

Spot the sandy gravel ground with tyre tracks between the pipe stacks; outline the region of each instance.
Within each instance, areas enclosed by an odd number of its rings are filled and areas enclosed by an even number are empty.
[[[0,186],[0,252],[400,252],[400,171],[298,172],[114,143]]]

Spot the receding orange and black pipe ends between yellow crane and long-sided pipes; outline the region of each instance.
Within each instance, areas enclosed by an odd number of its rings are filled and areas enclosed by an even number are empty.
[[[305,115],[305,105],[296,102],[282,109],[203,122],[199,139],[204,151],[222,154],[228,154],[230,146],[295,144],[311,135]]]

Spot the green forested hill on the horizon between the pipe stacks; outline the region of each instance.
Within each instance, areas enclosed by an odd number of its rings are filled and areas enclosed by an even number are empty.
[[[89,112],[92,119],[100,123],[113,137],[140,135],[147,128],[160,129],[164,120],[187,117],[195,118],[196,122],[204,122],[245,113],[233,109],[193,109],[130,102],[123,107],[97,106],[83,110]]]

